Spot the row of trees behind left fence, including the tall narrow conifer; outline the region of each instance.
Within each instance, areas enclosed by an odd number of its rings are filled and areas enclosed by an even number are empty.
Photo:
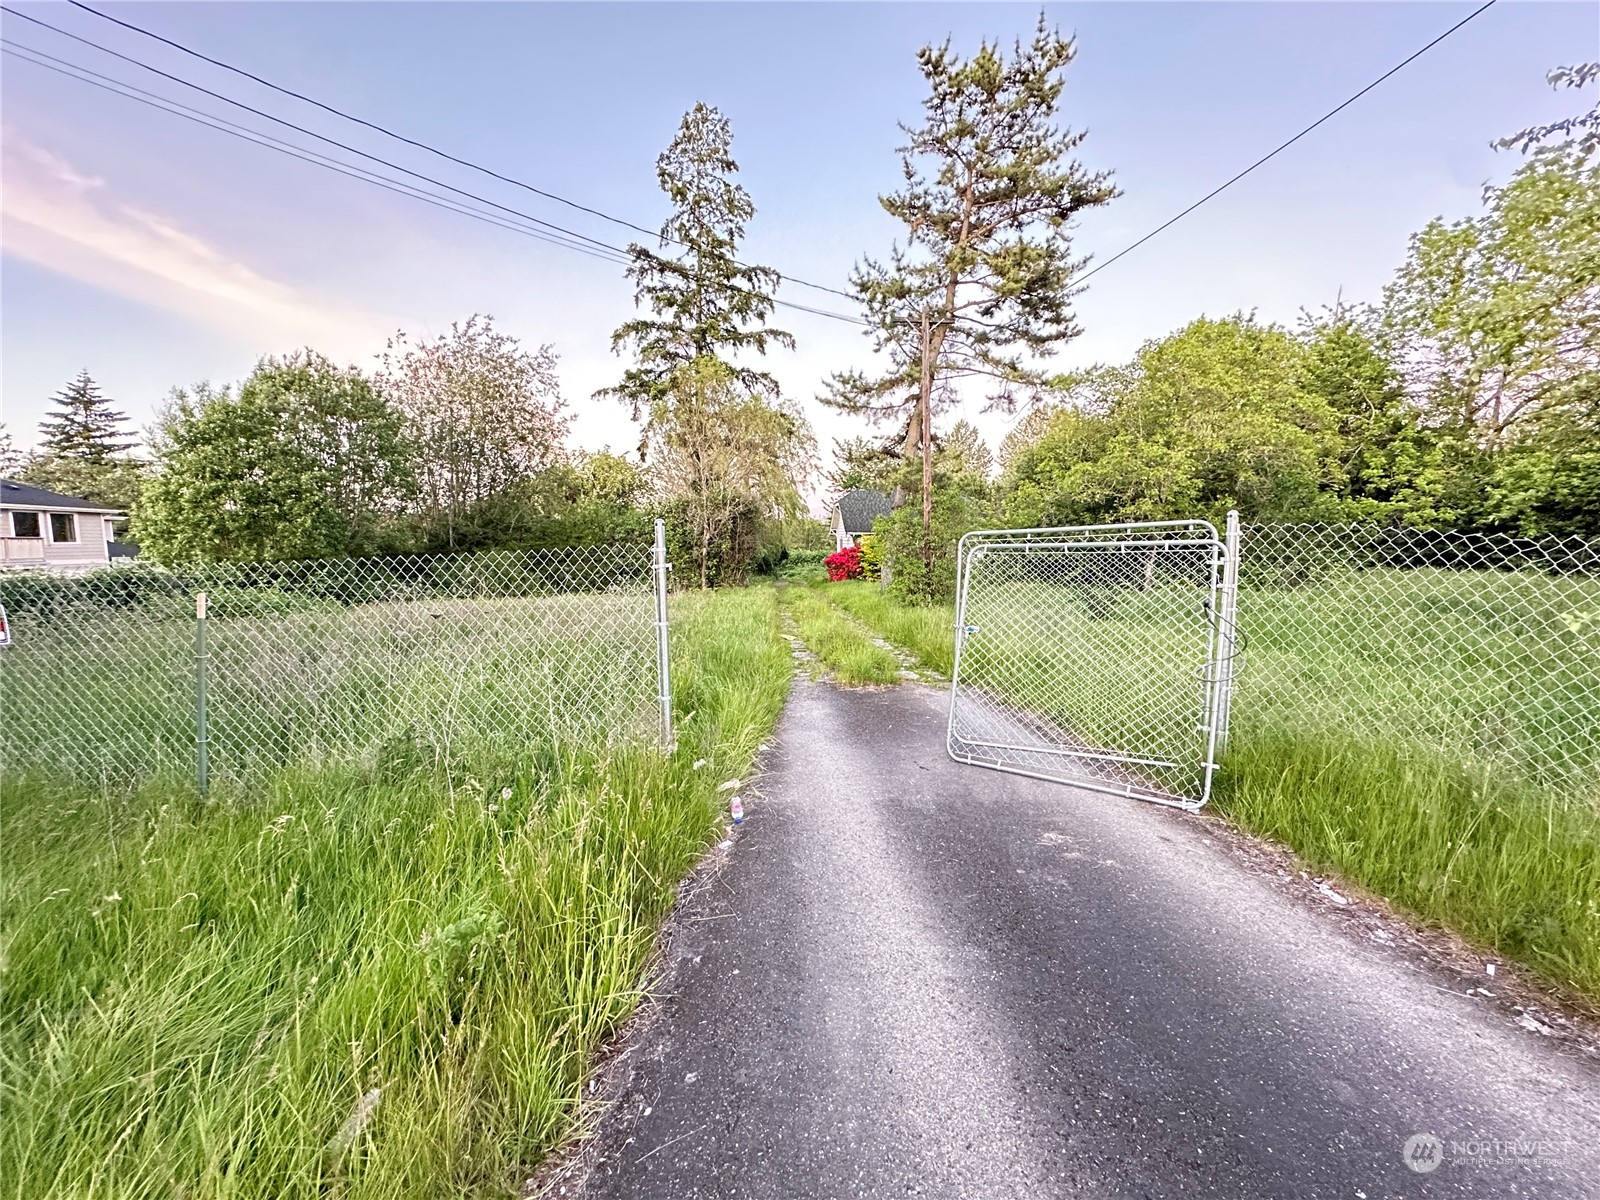
[[[802,501],[810,426],[749,366],[794,339],[766,326],[778,275],[736,258],[755,211],[736,171],[726,118],[694,106],[658,162],[674,253],[630,246],[642,315],[613,347],[632,365],[600,394],[642,424],[632,458],[571,450],[554,349],[474,315],[397,334],[370,373],[307,349],[178,389],[144,459],[85,373],[6,470],[128,510],[160,563],[643,541],[662,517],[678,581],[739,582],[827,531]]]

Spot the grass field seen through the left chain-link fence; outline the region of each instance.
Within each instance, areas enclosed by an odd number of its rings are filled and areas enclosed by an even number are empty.
[[[0,659],[8,765],[110,782],[192,773],[194,600],[160,600],[14,618],[16,643]],[[221,787],[288,765],[371,762],[395,739],[422,738],[461,758],[530,736],[589,741],[653,728],[648,586],[288,600],[286,611],[253,611],[234,597],[213,603],[210,757]]]

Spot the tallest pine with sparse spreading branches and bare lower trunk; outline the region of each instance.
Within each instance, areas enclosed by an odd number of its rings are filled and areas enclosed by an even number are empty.
[[[1040,14],[1034,40],[1010,58],[987,42],[970,59],[949,42],[917,56],[928,82],[923,123],[901,126],[906,187],[878,200],[904,222],[906,245],[888,262],[866,259],[851,278],[888,362],[877,374],[834,376],[822,400],[906,422],[907,458],[922,458],[925,539],[936,398],[984,379],[990,400],[1010,408],[1018,390],[1045,384],[1037,360],[1078,334],[1072,278],[1085,261],[1072,258],[1069,227],[1117,189],[1072,157],[1083,133],[1056,126],[1074,54]],[[931,565],[931,541],[923,552]]]

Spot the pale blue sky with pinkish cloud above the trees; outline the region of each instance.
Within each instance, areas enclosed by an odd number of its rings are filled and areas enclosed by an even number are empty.
[[[534,218],[626,245],[616,224],[406,147],[64,3],[8,3],[315,133]],[[1104,261],[1470,13],[1461,3],[1070,3],[1061,122],[1123,195],[1086,213],[1075,250]],[[742,248],[843,286],[896,237],[877,197],[901,181],[898,122],[920,112],[917,50],[1027,37],[1037,5],[846,3],[115,3],[107,11],[285,88],[581,205],[659,226],[654,160],[683,112],[726,114],[757,216]],[[8,43],[224,115],[274,126],[11,14]],[[1520,158],[1490,142],[1592,94],[1558,64],[1600,56],[1594,3],[1496,6],[1216,200],[1094,277],[1062,366],[1120,362],[1195,317],[1293,323],[1336,298],[1376,301],[1429,219],[1480,211]],[[1590,90],[1592,93],[1592,90]],[[136,422],[174,386],[238,381],[310,346],[371,368],[397,330],[475,312],[560,355],[584,448],[635,445],[610,334],[632,290],[611,262],[430,208],[202,128],[14,56],[0,61],[0,421],[37,440],[48,398],[88,370]],[[371,163],[363,163],[373,166]],[[374,168],[387,170],[387,168]],[[789,285],[802,304],[850,301]],[[870,366],[858,326],[784,309],[794,352],[766,366],[832,438],[867,432],[814,402]],[[1010,419],[966,416],[998,443]],[[955,419],[954,416],[949,419]],[[821,494],[821,493],[818,493]]]

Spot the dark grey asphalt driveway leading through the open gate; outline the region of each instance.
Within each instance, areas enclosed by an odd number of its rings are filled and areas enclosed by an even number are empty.
[[[797,680],[552,1194],[1594,1194],[1600,1066],[1214,826],[949,762],[942,701]]]

